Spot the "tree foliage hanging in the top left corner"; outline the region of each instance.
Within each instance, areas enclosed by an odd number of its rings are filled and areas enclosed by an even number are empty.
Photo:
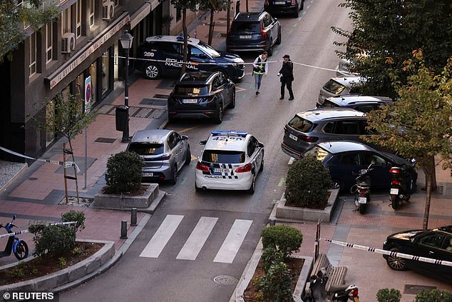
[[[17,5],[16,0],[0,1],[0,59],[24,41],[24,24],[36,31],[56,19],[58,13],[58,6],[51,1],[46,4],[41,0],[29,0],[21,5]]]

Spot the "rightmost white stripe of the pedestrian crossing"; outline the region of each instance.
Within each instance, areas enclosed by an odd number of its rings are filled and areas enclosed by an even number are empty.
[[[236,219],[213,262],[232,263],[247,236],[252,220]]]

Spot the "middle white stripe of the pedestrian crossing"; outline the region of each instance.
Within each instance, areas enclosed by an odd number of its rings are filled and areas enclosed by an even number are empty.
[[[217,217],[201,217],[176,259],[195,260],[217,220]]]

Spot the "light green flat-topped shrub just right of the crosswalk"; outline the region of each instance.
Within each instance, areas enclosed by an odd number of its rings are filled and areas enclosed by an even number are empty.
[[[289,257],[302,246],[302,232],[292,226],[267,226],[261,233],[262,247],[274,248],[283,253],[284,258]]]

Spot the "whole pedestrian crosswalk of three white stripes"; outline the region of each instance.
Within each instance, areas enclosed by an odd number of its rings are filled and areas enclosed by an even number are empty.
[[[183,215],[167,215],[160,224],[157,231],[155,231],[148,244],[143,248],[140,257],[158,258],[165,246],[173,237],[175,231],[180,228],[180,223],[183,221]],[[196,223],[195,228],[192,229],[190,236],[188,236],[183,247],[180,249],[176,259],[178,260],[196,260],[202,247],[215,226],[217,225],[217,217],[202,216]],[[217,251],[213,262],[217,263],[232,263],[237,256],[237,253],[242,246],[245,237],[252,225],[252,220],[235,219],[230,231],[222,242],[222,246]]]

